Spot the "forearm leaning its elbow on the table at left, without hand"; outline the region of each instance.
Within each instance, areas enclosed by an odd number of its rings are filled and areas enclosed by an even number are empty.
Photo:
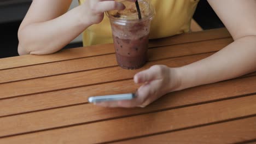
[[[56,19],[22,27],[18,33],[20,55],[59,51],[92,24],[82,19],[86,19],[86,15],[82,15],[79,6]]]

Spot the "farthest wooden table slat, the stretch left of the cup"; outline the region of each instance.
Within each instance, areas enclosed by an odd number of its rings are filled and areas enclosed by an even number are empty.
[[[67,61],[69,59],[106,55],[114,53],[113,44],[94,45],[90,47],[78,47],[75,49],[66,49],[50,55],[24,55],[17,57],[8,57],[0,59],[0,70],[27,65],[51,63],[57,61]],[[113,47],[113,49],[109,49]]]

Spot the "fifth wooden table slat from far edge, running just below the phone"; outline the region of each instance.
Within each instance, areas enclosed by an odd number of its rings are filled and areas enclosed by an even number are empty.
[[[36,123],[37,128],[39,128],[38,125],[42,125],[43,128],[41,129],[46,129],[51,127],[61,127],[63,125],[68,125],[68,124],[70,125],[70,124],[76,124],[76,123],[99,121],[101,119],[108,119],[112,117],[120,117],[125,115],[126,116],[137,115],[138,113],[147,113],[147,112],[156,111],[156,110],[159,111],[163,109],[170,109],[171,107],[191,105],[195,103],[205,103],[206,101],[226,99],[229,97],[235,97],[236,95],[248,94],[248,93],[245,93],[244,88],[241,88],[241,85],[245,85],[245,83],[250,81],[253,83],[247,83],[247,84],[249,85],[249,88],[251,88],[251,92],[256,92],[256,90],[254,89],[256,84],[255,83],[256,77],[253,77],[254,79],[252,80],[249,80],[249,78],[251,77],[247,77],[245,79],[238,79],[238,80],[235,80],[236,82],[225,81],[224,82],[225,85],[221,85],[217,83],[218,85],[216,85],[215,88],[219,89],[218,93],[212,91],[212,89],[210,89],[209,86],[208,87],[203,86],[204,88],[197,87],[196,89],[194,88],[188,89],[187,91],[184,91],[184,92],[181,91],[181,92],[171,93],[166,95],[162,99],[156,101],[155,103],[153,103],[152,105],[150,105],[145,109],[134,109],[134,110],[105,109],[105,108],[102,109],[101,107],[96,107],[93,105],[86,104],[86,105],[64,107],[61,109],[54,109],[54,110],[48,110],[48,111],[27,113],[25,115],[0,118],[0,125],[5,125],[5,123],[10,123],[11,119],[13,119],[13,122],[19,121],[19,123],[17,123],[18,125],[15,125],[15,123],[13,123],[11,124],[11,126],[14,128],[19,126],[19,128],[21,128],[20,130],[26,130],[26,128],[29,129],[31,123],[34,123],[34,124]],[[232,83],[232,86],[230,85],[231,83]],[[251,84],[254,84],[254,85],[251,85]],[[211,86],[211,87],[214,87],[214,86]],[[107,89],[110,89],[110,88],[107,87]],[[121,88],[122,87],[117,87],[117,89],[121,89]],[[125,88],[125,86],[123,86],[123,88]],[[198,89],[202,89],[200,93],[198,92]],[[250,91],[250,89],[246,89],[246,90],[247,92]],[[220,93],[223,93],[223,94],[220,94]],[[188,97],[187,95],[195,95],[195,96]],[[87,98],[84,98],[84,101]],[[85,110],[85,111],[80,111],[80,110]],[[75,113],[72,113],[72,111],[74,111]],[[51,116],[53,117],[49,119],[49,117]],[[79,118],[77,116],[79,116]],[[40,121],[37,122],[37,119],[40,119]],[[52,119],[54,119],[54,121]],[[74,122],[73,119],[76,119],[77,121]],[[49,124],[54,124],[54,125],[49,125]],[[14,128],[9,128],[9,125],[6,127],[8,127],[6,128],[6,130],[14,129]],[[4,129],[5,127],[2,127],[2,128]],[[7,133],[6,130],[3,130],[2,133]],[[32,129],[31,131],[33,130],[34,129]],[[40,129],[37,129],[37,130],[40,130]],[[0,136],[3,136],[1,135],[2,133],[0,132]]]

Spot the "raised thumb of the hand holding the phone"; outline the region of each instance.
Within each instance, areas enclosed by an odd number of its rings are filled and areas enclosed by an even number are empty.
[[[153,67],[150,67],[147,70],[143,70],[139,73],[137,73],[133,80],[135,83],[144,83],[144,82],[150,82],[155,79],[161,78],[161,67],[159,65],[154,65]]]

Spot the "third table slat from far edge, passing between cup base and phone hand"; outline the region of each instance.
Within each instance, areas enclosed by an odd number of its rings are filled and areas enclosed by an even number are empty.
[[[126,70],[120,67],[113,67],[82,71],[79,73],[43,77],[41,79],[5,83],[0,85],[0,89],[2,89],[2,91],[0,91],[0,99],[24,94],[50,92],[67,88],[82,87],[86,85],[96,85],[103,82],[132,79],[133,75],[138,73],[138,71],[147,69],[155,64],[164,64],[168,67],[181,67],[182,65],[199,61],[200,59],[208,57],[212,54],[213,53],[207,53],[202,55],[153,61],[147,63],[143,68],[136,70]]]

